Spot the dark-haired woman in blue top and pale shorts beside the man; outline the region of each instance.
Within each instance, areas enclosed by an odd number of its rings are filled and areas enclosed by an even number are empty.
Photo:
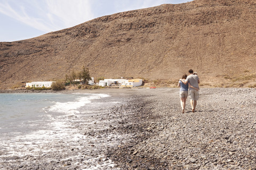
[[[187,74],[182,76],[182,80],[186,81]],[[182,113],[185,113],[186,100],[188,97],[188,85],[184,84],[182,81],[179,81],[178,87],[180,87],[180,105],[182,108]]]

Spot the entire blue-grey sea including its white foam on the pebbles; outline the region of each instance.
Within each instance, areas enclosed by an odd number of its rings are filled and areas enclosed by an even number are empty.
[[[10,168],[17,159],[41,154],[53,157],[53,152],[61,155],[65,151],[58,145],[76,147],[77,139],[84,138],[76,126],[95,124],[94,115],[117,103],[107,94],[0,94],[0,164]]]

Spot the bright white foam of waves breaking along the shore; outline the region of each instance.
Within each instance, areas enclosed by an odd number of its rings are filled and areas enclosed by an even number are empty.
[[[38,127],[38,130],[30,132],[25,135],[17,134],[15,135],[15,137],[12,137],[10,139],[6,139],[3,141],[0,140],[0,146],[6,150],[4,151],[5,152],[4,155],[0,155],[0,164],[3,160],[3,159],[1,160],[1,158],[6,156],[23,157],[23,156],[29,155],[33,157],[38,157],[38,154],[48,154],[52,152],[58,152],[58,151],[61,151],[62,149],[70,148],[70,146],[73,146],[74,148],[79,148],[79,149],[86,148],[86,146],[81,145],[81,142],[77,142],[77,141],[85,139],[84,131],[86,131],[86,128],[89,127],[94,122],[91,122],[91,121],[85,122],[86,120],[84,120],[83,122],[79,122],[79,119],[75,119],[74,120],[75,122],[73,123],[73,120],[70,119],[70,116],[67,116],[66,114],[61,116],[54,116],[54,114],[49,113],[49,111],[74,114],[78,112],[77,109],[79,107],[82,107],[82,106],[85,106],[86,104],[91,103],[92,99],[99,99],[103,97],[109,97],[109,95],[81,94],[74,101],[69,101],[66,103],[53,103],[51,107],[44,107],[42,111],[45,112],[46,114],[41,116],[47,116],[47,119],[45,120],[45,123],[41,128]],[[27,123],[31,126],[35,126],[37,124],[37,121],[27,121]],[[76,125],[77,127],[79,127],[80,126],[79,123],[81,123],[81,128],[83,127],[83,129],[85,129],[85,130],[82,130],[82,132],[81,130],[79,130],[79,128],[76,128],[74,126]],[[22,125],[25,126],[28,124],[22,124]],[[91,127],[95,127],[95,125],[92,124]],[[99,139],[92,137],[92,139],[84,140],[84,143],[87,145],[89,141],[95,142],[94,140],[98,141]],[[61,145],[65,145],[67,147],[54,147],[54,145],[56,145],[55,143],[61,143],[61,142],[62,142]],[[111,143],[112,142],[113,141],[111,141]],[[89,145],[87,149],[89,149],[90,151],[91,145]],[[104,158],[104,156],[101,156],[101,157]],[[73,158],[76,159],[76,156],[74,156]],[[104,162],[100,166],[98,165],[98,159],[92,158],[91,160],[88,160],[88,163],[90,163],[91,165],[95,165],[95,166],[91,166],[91,168],[93,167],[93,169],[100,169],[100,168],[115,169],[114,168],[115,165],[113,162],[111,162],[111,160]],[[108,168],[105,168],[105,167],[108,167]]]

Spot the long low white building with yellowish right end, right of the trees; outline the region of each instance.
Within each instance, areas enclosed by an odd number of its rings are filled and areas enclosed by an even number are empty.
[[[142,79],[104,79],[99,81],[99,86],[121,86],[121,87],[137,87],[142,85]]]

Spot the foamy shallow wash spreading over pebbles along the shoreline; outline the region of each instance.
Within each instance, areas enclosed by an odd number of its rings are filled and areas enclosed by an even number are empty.
[[[74,114],[51,116],[52,123],[44,124],[47,131],[38,127],[35,132],[6,138],[0,151],[0,169],[113,169],[115,164],[105,159],[103,151],[116,145],[119,138],[128,137],[98,131],[113,124],[109,120],[111,109],[129,100],[130,92],[123,93],[120,96],[111,92],[109,97],[91,99],[90,104],[79,107]],[[48,112],[46,117],[55,113]]]

